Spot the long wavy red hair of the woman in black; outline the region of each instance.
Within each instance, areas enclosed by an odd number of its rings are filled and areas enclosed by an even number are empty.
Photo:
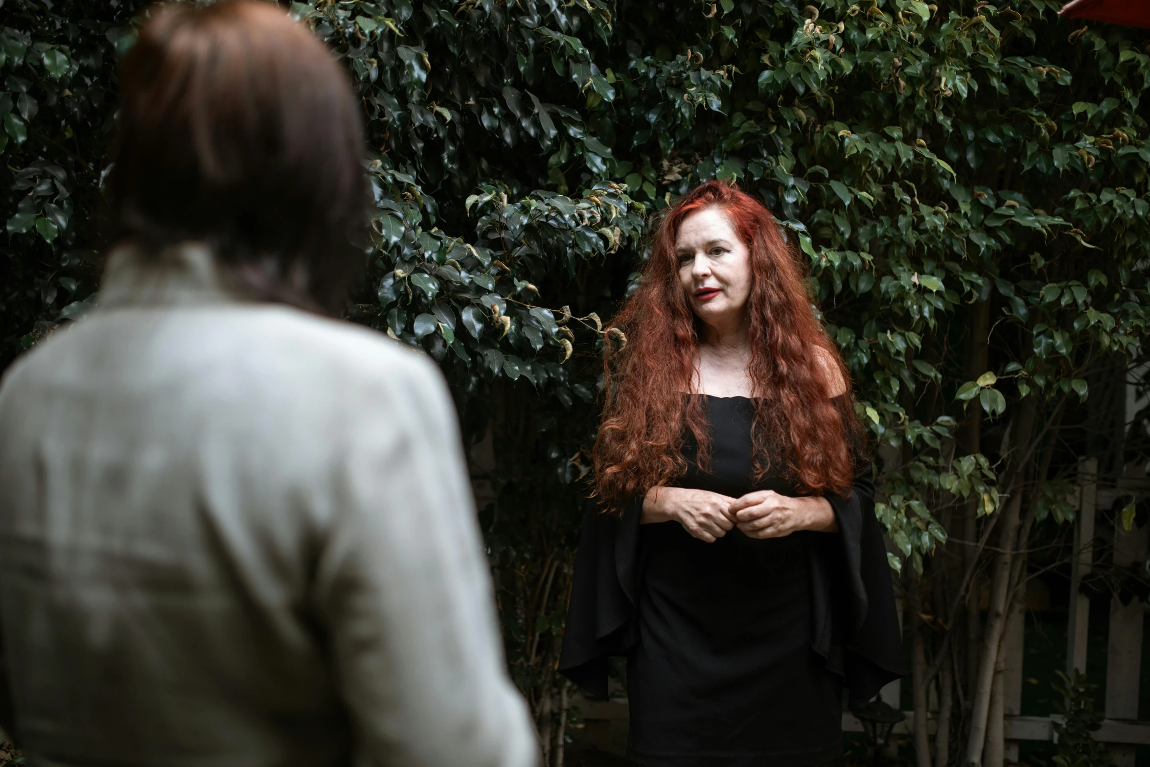
[[[687,216],[712,206],[727,214],[750,251],[754,478],[781,461],[782,475],[804,494],[845,494],[853,482],[857,420],[849,394],[833,401],[838,376],[850,378],[815,317],[805,268],[766,206],[733,184],[707,182],[667,209],[643,279],[612,323],[627,344],[604,362],[595,494],[605,511],[687,471],[684,424],[699,446],[700,468],[710,466],[704,400],[683,396],[691,391],[702,328],[678,281],[675,238]]]

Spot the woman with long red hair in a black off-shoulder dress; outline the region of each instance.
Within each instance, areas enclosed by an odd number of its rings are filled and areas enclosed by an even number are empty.
[[[628,756],[799,767],[842,690],[903,673],[849,374],[770,212],[721,182],[672,206],[614,324],[560,670],[627,657]]]

